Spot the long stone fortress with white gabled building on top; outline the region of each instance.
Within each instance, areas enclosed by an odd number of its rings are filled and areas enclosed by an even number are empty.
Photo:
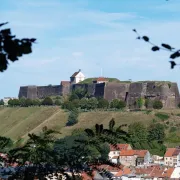
[[[121,99],[130,108],[135,108],[140,97],[150,100],[161,100],[164,108],[176,108],[180,102],[177,83],[169,81],[120,81],[115,78],[85,79],[81,70],[75,72],[70,81],[61,81],[60,85],[22,86],[19,98],[44,98],[47,96],[64,96],[71,91],[82,88],[92,97],[103,97],[108,101]]]

